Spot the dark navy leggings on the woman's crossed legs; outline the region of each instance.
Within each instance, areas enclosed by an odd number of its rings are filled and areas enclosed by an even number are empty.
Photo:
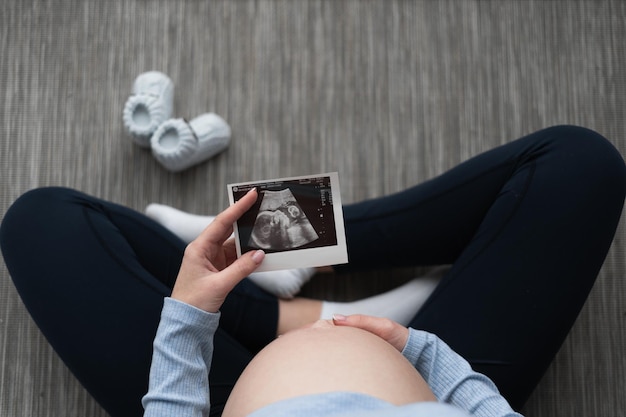
[[[344,207],[350,264],[453,264],[411,326],[437,334],[519,408],[574,323],[613,240],[624,162],[590,130],[545,129],[387,197]],[[20,197],[0,230],[30,314],[113,416],[141,415],[152,340],[184,244],[143,215],[77,191]],[[222,308],[210,374],[219,415],[277,300],[244,280]]]

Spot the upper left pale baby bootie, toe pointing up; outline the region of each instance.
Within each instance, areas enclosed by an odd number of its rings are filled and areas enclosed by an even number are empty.
[[[132,95],[124,106],[124,126],[135,143],[148,148],[150,137],[172,116],[173,107],[172,80],[162,72],[144,72],[135,79]]]

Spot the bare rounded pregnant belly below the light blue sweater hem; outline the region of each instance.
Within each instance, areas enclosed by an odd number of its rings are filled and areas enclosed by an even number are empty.
[[[402,405],[435,401],[415,368],[364,330],[332,324],[295,330],[263,349],[242,373],[223,412],[243,417],[308,394],[349,391]]]

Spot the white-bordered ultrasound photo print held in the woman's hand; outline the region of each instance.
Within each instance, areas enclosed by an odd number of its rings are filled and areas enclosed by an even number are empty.
[[[231,203],[255,187],[256,203],[235,224],[238,255],[263,249],[271,269],[347,262],[337,173],[229,184]]]

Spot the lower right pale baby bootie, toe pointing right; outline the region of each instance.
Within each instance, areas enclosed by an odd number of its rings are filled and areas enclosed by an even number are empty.
[[[170,171],[178,172],[209,159],[228,147],[230,126],[215,113],[206,113],[187,122],[163,122],[150,144],[154,157]]]

